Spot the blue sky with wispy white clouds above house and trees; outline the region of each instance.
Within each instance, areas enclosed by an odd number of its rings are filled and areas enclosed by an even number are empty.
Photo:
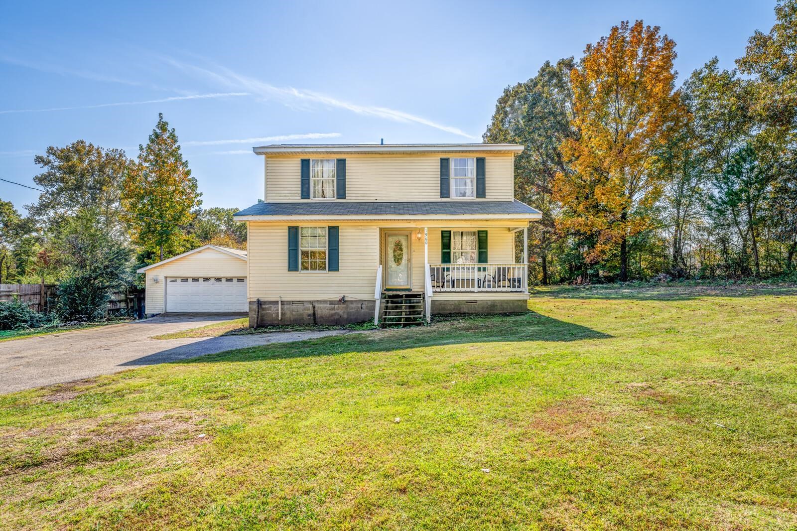
[[[253,145],[477,142],[505,86],[622,20],[676,41],[682,81],[714,55],[732,67],[774,6],[5,2],[0,177],[32,184],[34,154],[78,139],[133,156],[163,112],[202,206],[244,208],[263,195]],[[0,182],[0,199],[22,210],[37,192]]]

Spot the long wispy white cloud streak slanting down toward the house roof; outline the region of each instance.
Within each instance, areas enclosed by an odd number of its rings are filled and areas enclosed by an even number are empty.
[[[237,88],[251,92],[254,96],[261,96],[267,100],[278,100],[292,108],[308,109],[312,104],[324,105],[328,108],[341,108],[349,112],[354,112],[362,116],[374,116],[383,120],[392,120],[402,123],[414,123],[426,125],[430,128],[439,129],[440,131],[449,132],[453,135],[463,136],[465,138],[477,140],[477,136],[469,135],[462,131],[460,128],[453,127],[447,124],[441,124],[434,120],[429,120],[423,116],[414,115],[410,112],[399,111],[394,108],[379,107],[374,105],[355,104],[349,101],[340,100],[333,96],[328,96],[321,92],[314,92],[311,90],[304,90],[293,87],[277,87],[247,77],[239,73],[235,73],[230,69],[222,66],[214,66],[213,69],[204,68],[198,65],[191,65],[189,63],[178,61],[173,57],[161,57],[163,61],[182,69],[183,71],[198,74],[208,81],[225,85],[229,88]]]

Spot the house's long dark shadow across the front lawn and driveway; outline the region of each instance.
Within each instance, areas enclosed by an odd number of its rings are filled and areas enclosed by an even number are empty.
[[[308,332],[311,333],[311,332]],[[241,336],[219,336],[176,348],[169,348],[124,365],[160,363],[208,363],[214,361],[256,361],[306,356],[330,356],[344,352],[392,352],[405,348],[434,347],[450,344],[499,343],[512,341],[578,341],[611,337],[591,328],[559,321],[539,313],[520,316],[462,317],[441,319],[432,326],[346,333],[339,336],[283,343],[232,345],[225,340]],[[257,335],[244,336],[257,341]],[[234,349],[234,352],[230,352]],[[198,351],[216,353],[197,354]]]

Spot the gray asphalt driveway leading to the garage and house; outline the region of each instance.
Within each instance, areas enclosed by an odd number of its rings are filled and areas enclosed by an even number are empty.
[[[154,340],[151,336],[230,321],[226,316],[162,316],[0,343],[0,393],[111,374],[269,343],[335,336],[347,330]]]

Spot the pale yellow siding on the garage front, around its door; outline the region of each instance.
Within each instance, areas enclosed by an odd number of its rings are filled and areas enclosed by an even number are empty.
[[[153,267],[147,272],[147,313],[163,313],[166,277],[246,277],[246,261],[206,249],[172,260],[163,266]],[[159,281],[155,282],[155,277]]]

